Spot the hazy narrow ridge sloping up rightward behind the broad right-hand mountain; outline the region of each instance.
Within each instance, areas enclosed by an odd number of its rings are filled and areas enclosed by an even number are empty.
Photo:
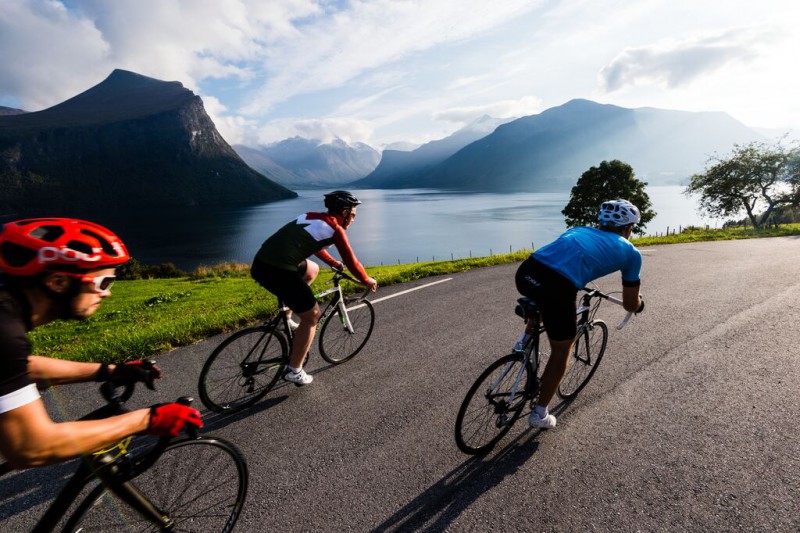
[[[468,144],[486,137],[508,119],[484,115],[449,137],[423,144],[412,151],[384,150],[377,168],[353,183],[360,188],[413,187],[420,176]]]

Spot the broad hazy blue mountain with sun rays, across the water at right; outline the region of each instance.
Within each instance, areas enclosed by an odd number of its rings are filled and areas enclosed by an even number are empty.
[[[612,159],[651,185],[678,184],[701,172],[710,156],[755,140],[763,137],[726,113],[571,100],[503,124],[435,167],[381,187],[565,192],[590,167]]]

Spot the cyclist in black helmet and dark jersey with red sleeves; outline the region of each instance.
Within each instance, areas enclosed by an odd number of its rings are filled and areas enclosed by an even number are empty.
[[[335,270],[348,270],[374,292],[378,283],[369,277],[356,259],[345,230],[356,218],[356,206],[361,203],[348,191],[333,191],[325,195],[327,213],[304,213],[289,222],[261,245],[253,259],[250,272],[259,285],[276,295],[289,309],[297,313],[300,323],[291,321],[295,330],[292,353],[283,379],[302,386],[314,378],[303,370],[303,360],[311,347],[320,309],[311,283],[319,273],[319,265],[308,260],[313,254]],[[344,263],[326,250],[336,245]]]

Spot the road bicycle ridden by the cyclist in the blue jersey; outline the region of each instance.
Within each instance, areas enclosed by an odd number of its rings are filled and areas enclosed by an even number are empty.
[[[603,300],[622,305],[622,301],[597,289],[584,288],[577,309],[575,344],[567,371],[558,386],[558,395],[575,398],[597,371],[608,341],[608,326],[595,319]],[[539,308],[533,300],[520,298],[515,308],[524,320],[539,324],[521,352],[494,361],[470,387],[456,416],[455,436],[458,448],[468,454],[490,451],[511,429],[526,404],[531,407],[539,395],[539,379],[549,355],[540,345],[544,333]],[[622,329],[633,313],[617,326]]]

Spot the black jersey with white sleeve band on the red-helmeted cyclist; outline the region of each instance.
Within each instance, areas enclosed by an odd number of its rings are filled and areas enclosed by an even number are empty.
[[[30,316],[25,297],[0,286],[0,413],[39,399],[28,374]]]

